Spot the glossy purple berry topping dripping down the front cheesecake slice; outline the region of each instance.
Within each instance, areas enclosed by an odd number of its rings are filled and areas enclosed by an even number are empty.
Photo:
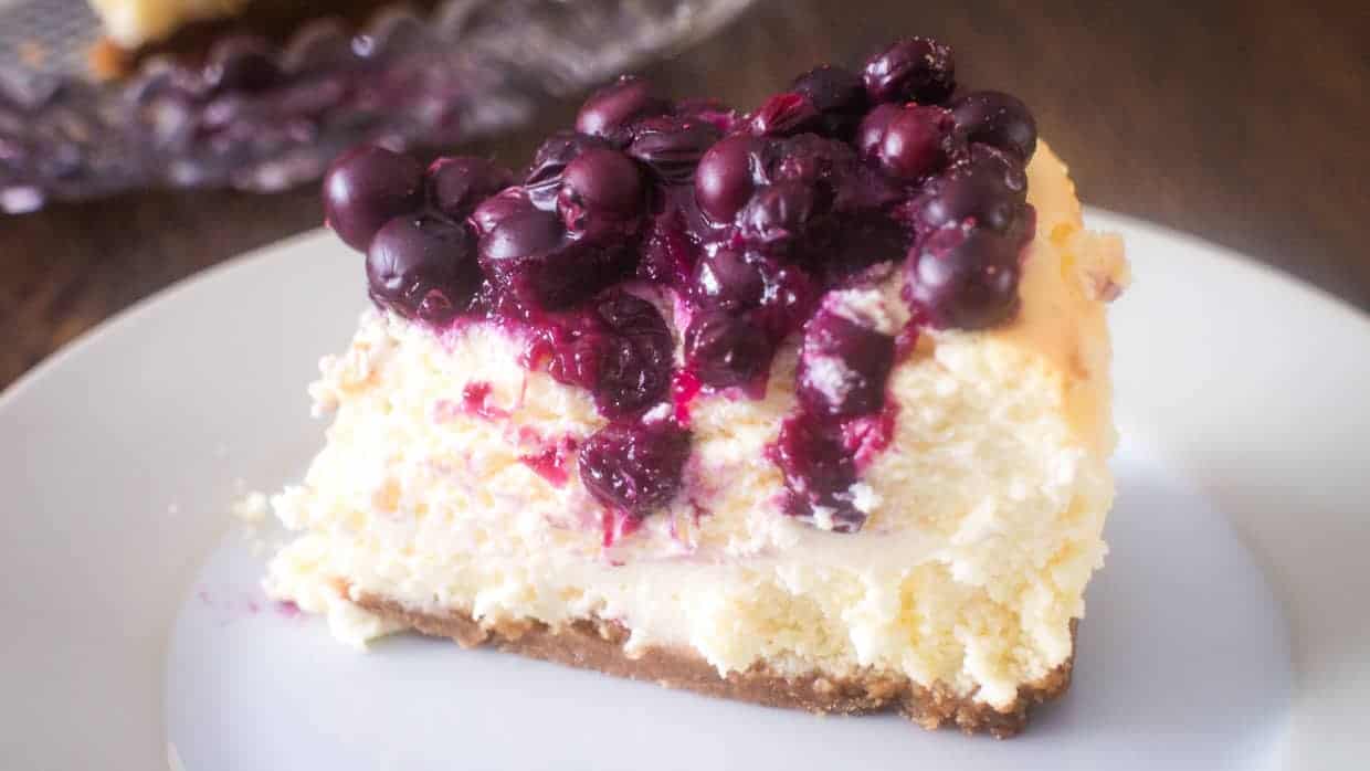
[[[951,49],[914,37],[859,71],[810,70],[747,114],[625,77],[522,175],[477,157],[425,171],[360,148],[323,193],[329,225],[367,255],[378,305],[434,327],[506,325],[526,340],[523,366],[589,392],[608,423],[521,462],[560,485],[575,457],[606,545],[681,492],[692,400],[764,394],[786,340],[797,400],[769,449],[784,509],[849,533],[866,519],[860,474],[895,434],[895,363],[925,327],[1018,311],[1036,144],[1022,101],[959,92]],[[906,329],[834,304],[869,275],[901,277]],[[688,319],[680,366],[671,303]],[[480,385],[463,408],[493,414]]]

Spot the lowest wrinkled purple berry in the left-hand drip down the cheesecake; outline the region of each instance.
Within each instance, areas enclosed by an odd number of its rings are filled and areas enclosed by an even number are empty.
[[[610,423],[581,446],[581,482],[603,505],[643,518],[675,497],[689,446],[673,423]]]

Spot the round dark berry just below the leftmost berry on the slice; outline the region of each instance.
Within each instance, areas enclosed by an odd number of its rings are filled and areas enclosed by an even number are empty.
[[[443,218],[396,216],[371,240],[366,278],[378,305],[445,325],[480,289],[475,240],[464,225]]]

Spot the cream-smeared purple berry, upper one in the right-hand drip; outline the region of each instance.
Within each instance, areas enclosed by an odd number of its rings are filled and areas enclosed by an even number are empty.
[[[895,366],[895,338],[821,309],[804,325],[799,357],[799,399],[825,418],[880,411]]]

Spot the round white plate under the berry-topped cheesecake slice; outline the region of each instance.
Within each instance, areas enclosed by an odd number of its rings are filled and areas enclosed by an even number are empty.
[[[0,768],[1363,768],[1370,323],[1125,233],[1119,503],[1075,683],[1011,742],[818,719],[440,641],[370,655],[258,589],[244,489],[321,442],[362,307],[310,234],[167,290],[0,396]]]

